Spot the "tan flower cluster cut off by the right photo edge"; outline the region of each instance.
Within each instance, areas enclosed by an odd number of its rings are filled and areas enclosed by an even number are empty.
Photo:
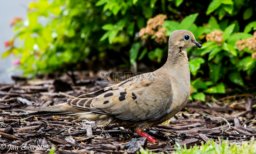
[[[239,40],[236,42],[236,46],[238,47],[238,50],[241,51],[245,47],[248,47],[248,50],[253,51],[254,53],[251,55],[252,59],[256,58],[256,31],[253,33],[253,37],[250,37],[246,40]]]

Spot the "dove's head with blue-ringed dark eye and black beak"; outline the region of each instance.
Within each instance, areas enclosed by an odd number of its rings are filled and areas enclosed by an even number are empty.
[[[196,42],[196,39],[188,30],[175,30],[169,37],[169,49],[178,47],[180,50],[186,51],[191,46],[202,47],[201,44]]]

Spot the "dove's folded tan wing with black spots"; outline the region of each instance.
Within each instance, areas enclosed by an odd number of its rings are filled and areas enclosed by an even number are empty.
[[[168,114],[171,103],[170,79],[145,74],[98,95],[91,107],[120,120],[155,121]]]

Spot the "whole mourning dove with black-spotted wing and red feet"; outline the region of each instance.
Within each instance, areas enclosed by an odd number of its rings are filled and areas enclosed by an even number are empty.
[[[67,103],[21,110],[40,111],[33,113],[37,116],[65,115],[100,125],[135,127],[140,136],[155,142],[143,130],[168,120],[188,101],[190,70],[186,50],[191,46],[202,47],[190,31],[176,30],[170,35],[168,58],[160,69],[68,99]]]

